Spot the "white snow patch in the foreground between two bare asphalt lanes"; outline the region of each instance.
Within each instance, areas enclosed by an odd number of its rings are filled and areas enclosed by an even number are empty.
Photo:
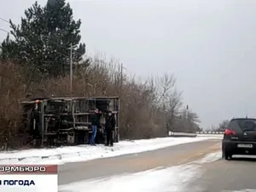
[[[185,189],[189,181],[200,176],[195,165],[159,168],[61,185],[59,192],[181,192],[189,191]]]

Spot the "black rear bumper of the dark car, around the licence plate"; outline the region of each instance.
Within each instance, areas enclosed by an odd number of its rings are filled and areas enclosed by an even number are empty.
[[[239,148],[238,144],[252,144],[253,148]],[[223,140],[223,150],[232,155],[256,155],[256,142]]]

